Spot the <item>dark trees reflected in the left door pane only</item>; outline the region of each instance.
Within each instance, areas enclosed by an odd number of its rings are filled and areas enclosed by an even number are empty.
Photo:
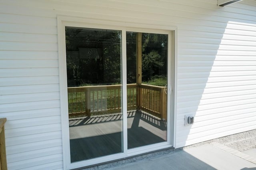
[[[68,87],[120,84],[121,31],[66,27]]]

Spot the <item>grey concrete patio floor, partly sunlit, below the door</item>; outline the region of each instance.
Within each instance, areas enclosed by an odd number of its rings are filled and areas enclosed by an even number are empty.
[[[239,152],[218,143],[205,144],[105,168],[108,170],[256,170],[255,149]]]

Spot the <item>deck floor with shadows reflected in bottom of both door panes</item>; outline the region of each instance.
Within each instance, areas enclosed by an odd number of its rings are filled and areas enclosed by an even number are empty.
[[[122,152],[122,114],[70,119],[71,162]],[[128,112],[128,149],[167,140],[166,121]]]

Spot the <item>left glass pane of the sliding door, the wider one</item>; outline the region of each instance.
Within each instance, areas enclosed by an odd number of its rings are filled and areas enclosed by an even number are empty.
[[[71,162],[123,152],[121,31],[66,27]]]

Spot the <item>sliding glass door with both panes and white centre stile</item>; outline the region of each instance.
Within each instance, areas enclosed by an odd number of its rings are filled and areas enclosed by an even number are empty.
[[[65,27],[70,164],[170,147],[169,36]]]

